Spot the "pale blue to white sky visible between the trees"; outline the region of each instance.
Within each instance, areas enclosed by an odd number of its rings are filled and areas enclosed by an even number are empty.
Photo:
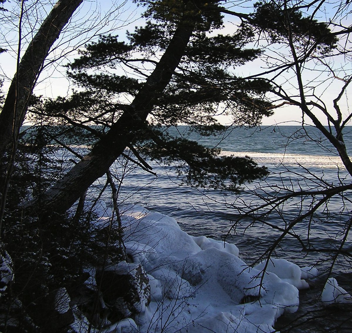
[[[26,5],[30,8],[32,2],[26,2]],[[243,2],[243,4],[248,4],[248,7],[251,7],[254,2],[255,1],[247,1]],[[41,9],[42,18],[44,18],[46,15],[45,12],[50,11],[51,4],[49,1],[46,5],[44,1],[41,1],[40,3],[42,8],[39,9]],[[9,5],[16,5],[16,3],[10,3]],[[229,6],[230,9],[237,11],[243,10],[246,12],[250,10],[250,8],[231,8],[231,1],[228,2],[227,6]],[[242,7],[245,6],[243,5]],[[113,9],[112,13],[111,9]],[[143,22],[144,19],[141,18],[140,14],[141,8],[137,8],[132,1],[126,1],[125,3],[122,2],[122,0],[111,0],[103,2],[84,1],[79,10],[75,13],[75,16],[69,25],[65,28],[65,32],[62,34],[61,41],[57,43],[54,50],[51,51],[49,59],[52,59],[53,57],[59,57],[59,62],[52,65],[47,61],[47,66],[41,73],[34,92],[49,98],[55,98],[56,96],[66,96],[69,94],[74,86],[69,82],[67,78],[65,78],[66,68],[63,67],[63,65],[68,63],[69,60],[72,60],[75,55],[77,55],[77,50],[81,49],[88,40],[96,38],[96,35],[98,34],[118,34],[121,39],[123,39],[126,29],[133,31],[136,25]],[[40,20],[38,21],[40,22]],[[18,40],[16,27],[18,25],[17,22],[18,21],[16,20],[9,20],[1,27],[3,32],[1,32],[2,38],[0,37],[0,40],[4,39],[5,36],[8,45],[10,45],[10,47],[12,47],[14,50],[13,52],[0,54],[0,71],[2,72],[0,72],[0,75],[2,74],[2,77],[5,78],[4,90],[8,86],[15,72],[16,59],[14,55],[16,54],[15,49],[17,47]],[[233,16],[225,15],[224,28],[221,30],[221,33],[232,33],[235,29],[236,23],[236,19],[234,19]],[[24,26],[23,34],[25,35],[25,38],[31,38],[31,30],[32,27],[30,25]],[[26,33],[28,34],[26,35]],[[72,39],[72,37],[74,38]],[[23,42],[23,45],[26,45],[25,41]],[[279,59],[279,57],[276,56],[280,52],[285,53],[287,50],[276,50],[274,46],[273,50],[265,50],[264,54],[268,56],[272,66],[274,66],[275,64],[280,64],[280,61],[282,61],[282,58]],[[274,57],[276,59],[274,59]],[[344,61],[346,62],[346,59],[338,59],[337,62],[339,61],[342,65],[344,65],[344,67],[346,67],[346,65],[343,64]],[[336,61],[334,65],[336,65]],[[234,68],[233,71],[237,75],[247,76],[252,75],[253,73],[265,71],[266,66],[267,65],[262,60],[256,60],[252,61],[251,63],[247,63],[244,66]],[[326,80],[324,83],[323,81],[326,79],[326,77],[319,73],[319,68],[317,68],[316,65],[307,64],[307,67],[309,66],[313,68],[314,71],[305,70],[304,73],[308,73],[306,74],[306,79],[313,80],[313,78],[316,78],[314,84],[317,86],[317,88],[314,92],[318,96],[323,96],[324,102],[326,105],[328,105],[329,109],[332,110],[333,100],[338,96],[343,82],[341,80]],[[348,65],[348,67],[349,70],[351,65]],[[293,76],[293,73],[284,73],[281,78],[277,78],[277,81],[279,84],[282,84],[283,87],[286,87],[290,93],[297,93],[297,81]],[[347,98],[345,96],[341,98],[341,110],[348,113]],[[318,117],[323,122],[323,124],[327,124],[325,116],[318,115]],[[223,116],[218,117],[218,119],[223,124],[226,124],[230,121],[227,117]],[[305,120],[307,121],[307,118],[305,118]],[[262,124],[293,125],[300,124],[301,122],[302,112],[297,107],[289,105],[276,110],[273,116],[264,118]]]

